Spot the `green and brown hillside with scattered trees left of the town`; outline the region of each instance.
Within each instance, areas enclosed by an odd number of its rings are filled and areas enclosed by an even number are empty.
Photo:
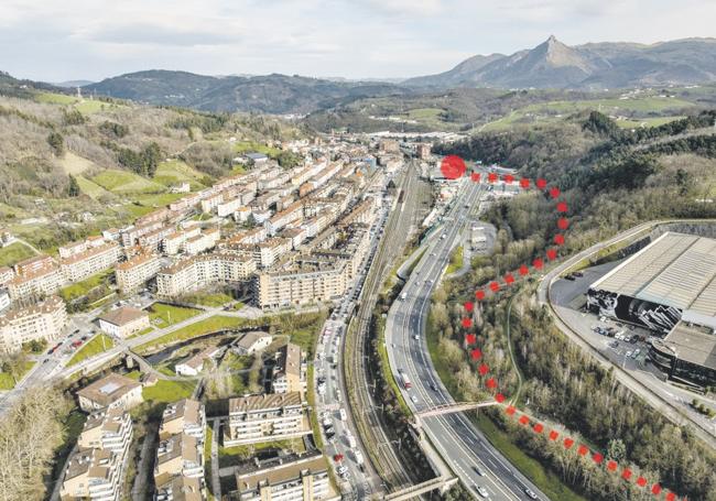
[[[78,98],[0,76],[0,230],[43,250],[133,218],[230,173],[247,150],[278,155],[304,131],[280,119]]]

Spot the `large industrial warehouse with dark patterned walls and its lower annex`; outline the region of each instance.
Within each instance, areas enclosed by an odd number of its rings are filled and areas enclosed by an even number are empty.
[[[716,240],[662,235],[593,283],[587,307],[665,335],[649,356],[671,379],[716,382]]]

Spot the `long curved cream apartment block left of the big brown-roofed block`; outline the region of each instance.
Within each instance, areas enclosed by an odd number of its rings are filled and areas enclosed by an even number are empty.
[[[214,284],[242,282],[254,271],[251,257],[228,252],[196,255],[161,270],[156,275],[156,293],[174,297]]]

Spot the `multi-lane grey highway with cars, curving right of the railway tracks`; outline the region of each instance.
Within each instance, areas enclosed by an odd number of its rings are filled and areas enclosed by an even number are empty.
[[[401,386],[401,391],[413,412],[454,403],[431,361],[425,324],[431,295],[469,222],[467,213],[479,204],[485,189],[484,185],[467,179],[463,182],[445,217],[441,237],[431,239],[402,290],[406,298],[395,301],[388,315],[386,342],[391,368],[404,371],[411,379],[412,389],[406,391]],[[491,500],[529,500],[528,488],[539,499],[549,499],[517,471],[463,413],[425,417],[421,422],[443,459],[477,499],[485,499],[478,493],[478,487],[485,489]]]

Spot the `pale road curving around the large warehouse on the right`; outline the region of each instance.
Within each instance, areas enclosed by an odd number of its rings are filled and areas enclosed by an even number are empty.
[[[654,384],[654,380],[639,371],[627,371],[620,364],[612,363],[608,357],[606,357],[601,351],[599,346],[595,346],[594,342],[583,337],[578,331],[572,329],[568,326],[568,323],[562,317],[560,312],[552,305],[550,298],[551,288],[554,282],[571,266],[574,266],[576,263],[582,260],[588,259],[593,254],[597,253],[601,249],[608,248],[615,243],[622,242],[625,240],[638,240],[642,236],[647,236],[650,230],[655,228],[659,225],[666,222],[686,222],[685,220],[661,220],[661,221],[650,221],[639,225],[634,228],[631,228],[627,231],[623,231],[616,237],[596,243],[590,248],[573,255],[563,263],[560,263],[552,270],[550,270],[540,282],[538,288],[538,299],[540,303],[549,306],[550,313],[554,318],[555,325],[562,330],[565,336],[577,346],[583,348],[586,352],[595,357],[605,368],[614,368],[614,374],[625,386],[629,390],[641,396],[649,405],[654,410],[663,414],[666,418],[671,420],[677,425],[691,424],[694,433],[702,439],[704,443],[708,444],[712,448],[716,448],[716,436],[714,435],[714,429],[704,424],[703,420],[698,416],[692,415],[691,412],[687,412],[683,409],[680,409],[672,401],[670,392],[666,392],[660,384]],[[696,222],[704,224],[707,220],[697,220]],[[670,396],[671,395],[671,396]]]

